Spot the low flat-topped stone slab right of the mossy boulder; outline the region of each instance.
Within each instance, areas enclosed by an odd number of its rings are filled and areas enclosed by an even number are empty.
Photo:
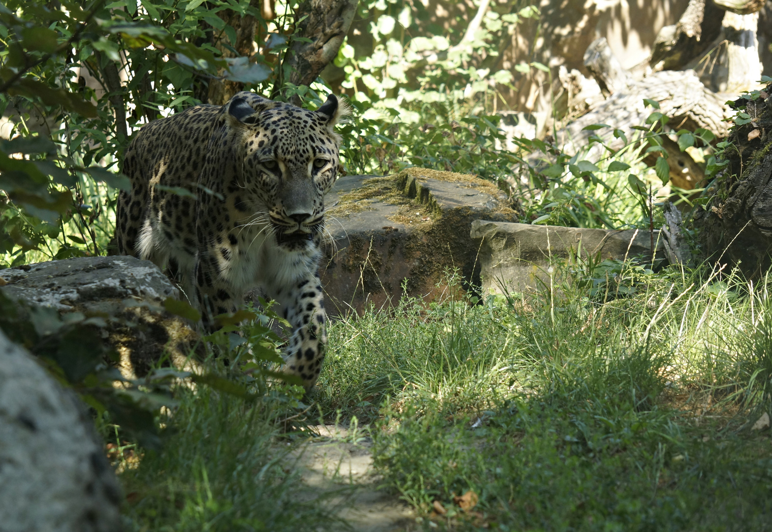
[[[642,229],[613,231],[475,220],[469,236],[478,242],[485,293],[503,293],[504,288],[534,292],[539,280],[549,280],[550,265],[575,256],[652,259],[651,236]],[[659,231],[655,231],[655,259],[659,261],[664,258],[664,246],[658,239]]]

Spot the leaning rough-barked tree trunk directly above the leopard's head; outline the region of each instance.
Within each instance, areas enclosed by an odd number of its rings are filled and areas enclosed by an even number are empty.
[[[287,50],[283,66],[289,66],[289,83],[309,86],[317,79],[337,56],[356,12],[357,0],[305,0],[300,4],[296,20],[306,18],[298,25],[297,36],[310,42],[294,39]],[[299,104],[300,99],[293,98],[293,103]]]

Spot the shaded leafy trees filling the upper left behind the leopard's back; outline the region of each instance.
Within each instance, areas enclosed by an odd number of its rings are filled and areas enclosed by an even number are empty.
[[[313,13],[340,14],[339,4],[310,3]],[[356,2],[346,5],[350,22]],[[0,266],[105,252],[116,189],[127,185],[117,173],[121,154],[149,121],[222,104],[239,90],[268,96],[278,87],[279,99],[320,101],[294,82],[316,81],[347,25],[309,19],[298,7],[272,0],[0,5],[0,112],[10,139],[0,143]],[[296,25],[301,20],[316,25]],[[303,79],[285,76],[298,63],[296,41],[322,45]]]

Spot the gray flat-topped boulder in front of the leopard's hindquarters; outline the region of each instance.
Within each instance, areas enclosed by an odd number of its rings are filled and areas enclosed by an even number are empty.
[[[191,350],[201,350],[190,324],[164,310],[181,294],[153,263],[130,256],[80,257],[0,270],[0,290],[30,307],[51,307],[64,316],[99,318],[101,334],[120,357],[125,378],[143,377],[168,354],[190,368]]]

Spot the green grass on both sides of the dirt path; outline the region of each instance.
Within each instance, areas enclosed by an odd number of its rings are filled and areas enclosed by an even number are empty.
[[[179,387],[164,446],[123,464],[127,530],[344,530],[286,459],[305,440],[283,420],[313,411],[364,427],[415,530],[772,530],[770,430],[752,428],[772,406],[768,282],[556,267],[537,296],[334,321],[310,410],[277,385]]]

